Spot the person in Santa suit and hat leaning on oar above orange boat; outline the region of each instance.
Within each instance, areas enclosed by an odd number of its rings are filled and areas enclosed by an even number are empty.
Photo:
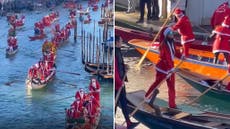
[[[177,18],[177,23],[171,26],[172,30],[178,30],[181,35],[181,44],[183,46],[183,57],[189,56],[190,44],[195,41],[195,36],[192,31],[192,25],[187,16],[185,16],[181,9],[176,8],[173,13]]]

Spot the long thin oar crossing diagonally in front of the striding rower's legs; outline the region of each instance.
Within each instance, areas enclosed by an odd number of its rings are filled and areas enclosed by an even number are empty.
[[[180,65],[183,63],[183,61],[184,61],[184,60],[181,60],[181,61],[178,63],[178,65],[174,68],[174,70],[173,70],[171,73],[169,73],[169,74],[165,77],[165,79],[163,79],[163,80],[158,84],[158,86],[156,87],[156,89],[157,89],[159,86],[161,86],[161,84],[162,84],[165,80],[167,80],[173,73],[175,73],[175,72],[177,71],[177,69],[180,67]],[[152,92],[152,93],[153,93],[153,92]],[[147,98],[149,98],[149,97],[152,95],[152,93],[149,94],[149,95],[147,96]],[[143,100],[141,103],[139,103],[139,105],[133,110],[133,112],[129,115],[129,117],[132,117],[132,116],[140,109],[140,106],[142,106],[144,103],[145,103],[145,100]],[[125,124],[125,121],[122,123],[122,125],[124,125],[124,124]]]

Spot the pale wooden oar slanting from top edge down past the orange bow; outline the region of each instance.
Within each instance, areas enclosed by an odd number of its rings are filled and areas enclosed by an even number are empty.
[[[170,19],[171,15],[173,14],[175,8],[177,7],[177,5],[179,4],[180,0],[177,1],[175,7],[172,9],[172,11],[170,12],[169,16],[167,17],[167,19],[165,20],[164,24],[162,25],[161,29],[158,31],[158,33],[156,34],[156,36],[154,37],[151,45],[147,48],[147,50],[145,51],[145,53],[143,54],[143,56],[141,57],[140,61],[138,62],[138,64],[136,65],[136,69],[140,70],[140,66],[142,64],[142,62],[144,61],[145,57],[147,56],[152,44],[155,43],[155,41],[157,40],[158,36],[160,35],[162,29],[166,26],[168,20]]]

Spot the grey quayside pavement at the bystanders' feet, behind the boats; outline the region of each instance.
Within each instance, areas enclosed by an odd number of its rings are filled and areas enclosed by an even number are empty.
[[[154,32],[157,33],[161,26],[164,24],[166,19],[160,18],[159,20],[151,20],[147,21],[146,14],[144,23],[137,24],[136,21],[139,20],[139,11],[136,10],[134,13],[126,13],[126,7],[123,5],[117,4],[115,6],[115,25],[137,29],[146,32]],[[170,19],[167,25],[174,24],[173,20]],[[210,25],[192,25],[193,32],[197,39],[207,39],[208,36],[212,32],[212,28]]]

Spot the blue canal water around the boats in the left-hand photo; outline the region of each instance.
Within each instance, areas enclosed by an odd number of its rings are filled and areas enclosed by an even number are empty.
[[[101,1],[104,2],[104,1]],[[83,1],[83,8],[87,2]],[[102,3],[99,3],[99,6]],[[61,6],[54,10],[59,11],[59,22],[63,27],[68,19],[68,10]],[[92,75],[85,72],[81,62],[81,38],[74,42],[73,31],[68,43],[63,44],[57,51],[56,65],[59,71],[80,73],[80,75],[57,72],[54,80],[44,89],[38,91],[28,90],[25,86],[27,71],[30,66],[42,57],[41,46],[44,42],[30,42],[34,23],[50,13],[49,10],[41,12],[24,12],[26,16],[25,27],[17,31],[19,51],[11,57],[5,57],[7,47],[7,31],[9,25],[6,17],[0,17],[0,128],[1,129],[63,129],[65,128],[65,108],[74,101],[75,92],[79,88],[87,90]],[[100,9],[91,13],[92,20],[100,19]],[[78,19],[78,18],[77,18]],[[56,23],[57,23],[56,22]],[[78,23],[79,20],[78,20]],[[96,22],[97,23],[97,22]],[[86,31],[93,32],[93,22],[83,25]],[[81,27],[78,27],[80,36]],[[96,26],[98,32],[100,26]],[[102,28],[101,28],[102,30]],[[51,27],[46,29],[48,39],[51,36]],[[65,83],[63,83],[65,82]],[[109,129],[113,126],[113,84],[109,81],[99,80],[101,84],[102,115],[99,128]],[[66,83],[74,84],[75,86]],[[68,99],[62,99],[70,97]]]

